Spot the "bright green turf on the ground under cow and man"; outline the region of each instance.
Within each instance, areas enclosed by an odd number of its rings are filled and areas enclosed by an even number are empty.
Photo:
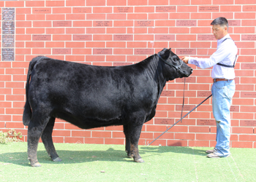
[[[0,145],[0,181],[256,181],[255,149],[208,159],[203,147],[140,146],[144,163],[127,158],[124,146],[56,143],[62,162],[52,162],[42,143],[30,167],[27,143]]]

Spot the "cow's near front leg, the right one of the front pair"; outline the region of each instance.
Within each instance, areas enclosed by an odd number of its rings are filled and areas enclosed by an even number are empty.
[[[143,127],[143,124],[140,125],[129,125],[129,140],[131,143],[131,154],[135,162],[144,162],[140,157],[138,143],[140,139],[140,132]]]

